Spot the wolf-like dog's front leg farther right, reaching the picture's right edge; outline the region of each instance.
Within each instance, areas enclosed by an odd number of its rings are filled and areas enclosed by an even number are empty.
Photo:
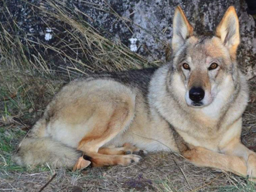
[[[256,153],[244,146],[240,138],[234,138],[225,147],[220,149],[222,153],[230,156],[242,157],[246,161],[246,176],[256,182]]]

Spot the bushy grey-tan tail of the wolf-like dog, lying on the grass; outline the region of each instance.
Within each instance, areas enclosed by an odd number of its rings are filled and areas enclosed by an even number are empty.
[[[14,161],[18,165],[28,166],[49,163],[55,167],[71,168],[82,153],[67,147],[49,137],[24,139]]]

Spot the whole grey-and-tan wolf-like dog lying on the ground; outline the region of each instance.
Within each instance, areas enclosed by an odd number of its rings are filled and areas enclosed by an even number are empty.
[[[233,6],[213,36],[196,36],[178,6],[169,63],[70,82],[48,104],[14,160],[77,170],[89,164],[126,166],[146,151],[162,150],[253,180],[256,153],[240,139],[248,86],[236,62],[239,43]]]

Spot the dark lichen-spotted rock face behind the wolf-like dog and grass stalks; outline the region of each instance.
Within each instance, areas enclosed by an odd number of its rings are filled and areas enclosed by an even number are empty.
[[[54,44],[60,33],[54,23],[35,16],[31,4],[39,6],[41,0],[6,0],[13,18],[26,33]],[[210,34],[220,22],[228,6],[235,6],[240,22],[241,44],[238,61],[248,79],[256,75],[256,23],[246,12],[244,0],[62,0],[70,10],[79,10],[85,20],[112,40],[136,50],[150,61],[167,60],[170,56],[172,18],[174,8],[180,5],[197,34]],[[50,8],[49,8],[50,10]],[[72,14],[72,12],[70,12]],[[0,16],[5,21],[4,16]],[[131,40],[132,39],[132,40]]]

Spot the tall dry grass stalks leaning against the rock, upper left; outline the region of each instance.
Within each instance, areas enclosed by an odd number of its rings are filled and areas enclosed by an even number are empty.
[[[6,6],[0,21],[1,62],[10,68],[29,70],[33,73],[81,76],[91,72],[120,71],[154,65],[131,52],[118,40],[110,40],[90,25],[90,19],[76,6],[60,0],[44,0],[40,4],[25,2],[42,19],[54,28],[53,41],[45,41],[42,34],[24,30]],[[96,4],[88,4],[99,9]],[[113,12],[113,14],[116,14]],[[26,22],[24,22],[26,24]],[[49,27],[50,28],[50,27]],[[54,31],[58,33],[54,34]],[[111,34],[108,34],[111,37]]]

